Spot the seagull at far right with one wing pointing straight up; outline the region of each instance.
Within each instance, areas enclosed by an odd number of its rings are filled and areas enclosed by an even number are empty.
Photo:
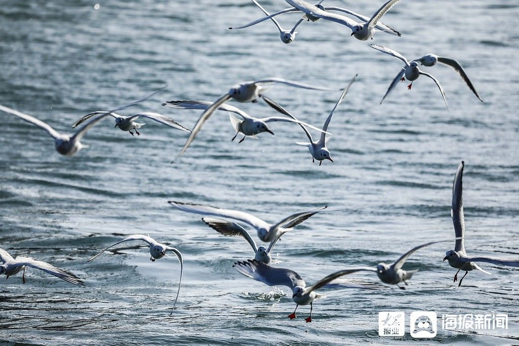
[[[503,259],[487,256],[470,257],[465,252],[465,244],[463,241],[463,238],[465,237],[465,216],[463,216],[462,196],[462,176],[464,167],[465,161],[461,161],[458,169],[456,170],[456,174],[454,175],[452,209],[450,210],[450,214],[453,218],[454,232],[456,234],[456,245],[454,250],[447,251],[445,253],[445,257],[443,258],[443,260],[448,260],[451,267],[458,269],[454,275],[454,282],[458,280],[458,273],[460,270],[465,270],[465,275],[463,275],[463,278],[467,276],[469,271],[474,269],[491,275],[486,270],[481,269],[474,262],[487,262],[498,266],[519,267],[519,259]],[[461,286],[463,278],[461,278],[459,281],[458,287]]]

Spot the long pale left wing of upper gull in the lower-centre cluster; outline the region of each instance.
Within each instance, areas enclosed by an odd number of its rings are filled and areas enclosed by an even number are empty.
[[[194,204],[194,203],[183,203],[183,202],[175,202],[175,201],[168,201],[168,203],[173,205],[176,209],[179,209],[179,210],[182,210],[182,211],[188,212],[188,213],[230,218],[230,219],[238,220],[245,224],[251,225],[254,228],[268,229],[270,227],[270,225],[267,224],[261,218],[255,217],[255,216],[253,216],[249,213],[245,213],[245,212],[215,208],[215,207],[209,206],[209,205],[201,205],[201,204]]]

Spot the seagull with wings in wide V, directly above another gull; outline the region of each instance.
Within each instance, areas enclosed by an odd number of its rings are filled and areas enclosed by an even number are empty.
[[[255,217],[249,213],[240,212],[236,210],[221,209],[209,205],[183,203],[176,201],[168,201],[168,203],[173,205],[176,209],[182,210],[184,212],[229,218],[251,225],[257,230],[258,238],[260,238],[264,242],[271,242],[279,238],[283,233],[288,232],[290,229],[301,224],[310,216],[323,211],[327,207],[322,206],[318,209],[314,209],[308,212],[295,213],[283,218],[276,224],[268,224],[261,218]]]

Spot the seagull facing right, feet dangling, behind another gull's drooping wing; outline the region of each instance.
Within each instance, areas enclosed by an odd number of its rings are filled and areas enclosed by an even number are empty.
[[[265,96],[263,96],[265,99]],[[265,100],[266,101],[266,100]],[[171,108],[178,108],[178,109],[206,109],[208,106],[210,106],[212,102],[209,101],[168,101],[165,103],[162,103],[163,106],[171,107]],[[238,134],[243,134],[243,138],[240,140],[239,143],[243,142],[245,140],[245,137],[250,136],[253,138],[257,138],[256,134],[262,133],[262,132],[268,132],[272,135],[274,135],[274,132],[270,131],[270,129],[267,127],[268,122],[274,122],[274,121],[282,121],[282,122],[293,122],[300,124],[303,129],[304,126],[307,126],[311,129],[317,130],[322,132],[321,129],[318,129],[316,127],[311,126],[310,124],[307,124],[306,122],[299,121],[297,119],[290,119],[285,117],[266,117],[266,118],[255,118],[253,116],[250,116],[249,114],[243,112],[243,110],[239,109],[238,107],[235,107],[233,105],[229,104],[222,104],[220,107],[218,107],[220,110],[226,110],[227,112],[232,112],[238,114],[241,118],[238,118],[234,116],[233,114],[229,113],[229,118],[231,124],[233,124],[233,127],[236,131],[235,136],[231,141],[234,141],[236,139],[236,136]],[[326,130],[324,130],[326,131]],[[327,132],[325,132],[327,133]]]

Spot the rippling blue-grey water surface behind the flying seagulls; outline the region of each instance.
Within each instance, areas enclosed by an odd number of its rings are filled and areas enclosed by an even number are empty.
[[[378,312],[508,313],[509,329],[477,333],[440,329],[432,344],[519,343],[519,271],[482,264],[461,288],[442,262],[453,243],[425,248],[406,268],[420,271],[407,289],[322,289],[313,322],[286,315],[290,290],[237,273],[251,257],[241,239],[223,238],[198,215],[168,200],[248,211],[275,222],[298,211],[342,209],[308,219],[277,244],[277,266],[308,284],[335,270],[391,262],[412,247],[454,237],[452,179],[465,160],[466,246],[472,255],[519,256],[519,65],[517,5],[510,1],[403,0],[384,22],[402,33],[373,41],[349,37],[336,23],[304,22],[294,43],[281,43],[262,15],[242,0],[198,2],[21,2],[0,6],[0,103],[71,131],[79,117],[169,88],[123,114],[157,112],[192,127],[199,111],[161,102],[215,100],[238,81],[278,76],[341,87],[357,82],[329,127],[335,163],[311,163],[303,131],[275,132],[238,144],[225,113],[213,115],[181,160],[170,164],[186,134],[146,122],[132,137],[104,120],[84,139],[90,148],[62,157],[47,134],[2,113],[0,247],[65,268],[86,288],[31,269],[0,279],[0,344],[416,344],[378,336]],[[263,1],[267,10],[286,8]],[[380,2],[330,1],[371,15]],[[280,18],[291,27],[299,18]],[[504,24],[501,24],[504,23]],[[433,52],[457,59],[485,103],[446,66],[424,68],[411,91],[404,83],[379,105],[401,62],[368,47],[391,47],[407,58]],[[405,84],[406,85],[406,84]],[[322,126],[340,92],[273,86],[265,92],[301,120]],[[275,115],[264,102],[232,104],[255,116]],[[126,113],[127,112],[127,113]],[[214,130],[211,131],[211,128]],[[129,234],[149,234],[179,248],[185,270],[177,310],[176,259],[149,261],[138,242],[87,263]],[[376,282],[373,275],[356,279]]]

